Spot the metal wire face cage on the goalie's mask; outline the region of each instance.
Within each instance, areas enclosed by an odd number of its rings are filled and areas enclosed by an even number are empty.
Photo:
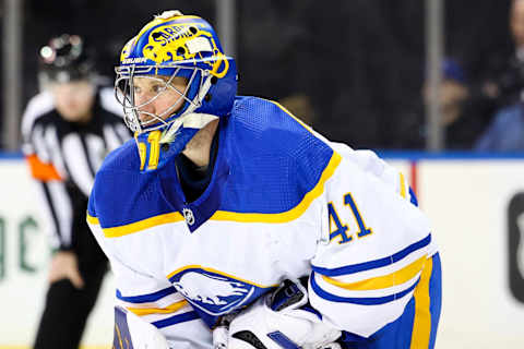
[[[164,79],[157,77],[163,75],[155,74],[155,72],[157,72],[158,69],[174,69],[174,72],[169,76],[169,79],[166,81]],[[190,74],[190,77],[188,80],[188,84],[184,91],[179,92],[171,85],[171,82],[176,76],[178,76],[178,74],[182,70],[192,70],[192,72]],[[124,113],[123,120],[126,124],[131,131],[136,132],[138,134],[163,129],[169,125],[170,123],[172,123],[175,121],[175,118],[172,120],[169,120],[169,117],[178,110],[178,109],[177,110],[175,109],[175,106],[178,106],[181,99],[183,99],[184,103],[189,103],[189,106],[186,108],[182,115],[190,113],[196,108],[201,107],[202,99],[204,98],[205,94],[207,93],[211,86],[210,79],[207,79],[207,77],[211,77],[209,71],[205,71],[200,68],[188,68],[188,67],[180,67],[176,64],[162,65],[162,67],[131,64],[131,65],[124,65],[124,67],[117,67],[115,71],[117,73],[117,79],[115,81],[115,96],[117,100],[120,103],[120,105],[123,107],[123,113]],[[188,93],[191,89],[192,84],[195,83],[194,80],[196,79],[196,75],[199,72],[201,73],[201,79],[200,79],[200,82],[196,82],[199,83],[198,93],[195,94],[193,99],[190,99],[190,97],[188,97]],[[135,104],[134,93],[133,93],[134,92],[133,79],[136,76],[152,79],[152,80],[162,82],[163,84],[162,89],[155,96],[153,96],[152,98],[150,98],[148,100],[140,105]],[[177,98],[177,100],[175,100],[168,108],[166,108],[159,115],[140,110],[141,108],[152,104],[163,93],[165,93],[168,89],[175,91],[179,95],[179,98]],[[183,104],[181,108],[183,108]],[[145,115],[148,118],[145,118],[144,121],[141,121],[140,115]]]

